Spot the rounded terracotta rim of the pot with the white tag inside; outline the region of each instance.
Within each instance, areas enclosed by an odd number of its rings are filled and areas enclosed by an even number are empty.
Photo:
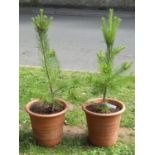
[[[85,111],[85,112],[88,113],[88,114],[91,114],[91,115],[108,117],[108,116],[116,116],[116,115],[119,115],[119,114],[123,113],[123,112],[125,111],[125,109],[126,109],[125,104],[124,104],[122,101],[119,101],[119,100],[117,100],[117,99],[112,99],[112,98],[107,98],[107,99],[105,99],[105,100],[106,100],[106,101],[115,102],[115,103],[119,104],[119,105],[121,106],[121,110],[119,110],[119,111],[117,111],[117,112],[114,112],[114,113],[108,113],[108,114],[103,113],[103,114],[102,114],[102,113],[92,112],[92,111],[90,111],[90,110],[88,110],[88,109],[86,108],[88,105],[91,105],[91,104],[93,104],[93,103],[95,103],[95,102],[97,102],[97,103],[102,102],[102,101],[103,101],[102,98],[93,98],[93,99],[90,99],[90,100],[86,101],[86,102],[82,105],[82,110]],[[96,104],[97,104],[97,103],[96,103]]]

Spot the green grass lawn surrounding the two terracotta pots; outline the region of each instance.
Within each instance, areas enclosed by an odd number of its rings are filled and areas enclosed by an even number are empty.
[[[64,71],[64,81],[67,87],[60,97],[69,101],[71,110],[65,115],[67,126],[86,128],[86,120],[81,105],[86,100],[101,97],[91,89],[93,76],[96,73]],[[122,84],[116,91],[109,92],[108,97],[122,100],[126,111],[122,115],[121,127],[134,128],[134,76],[120,77]],[[123,87],[121,87],[123,85]],[[86,136],[63,137],[61,143],[54,149],[44,148],[35,144],[30,119],[25,112],[26,103],[32,98],[47,97],[48,84],[46,76],[40,68],[20,67],[20,154],[23,155],[134,155],[134,139],[126,142],[119,139],[112,147],[95,147],[88,143]],[[130,135],[129,135],[130,138]]]

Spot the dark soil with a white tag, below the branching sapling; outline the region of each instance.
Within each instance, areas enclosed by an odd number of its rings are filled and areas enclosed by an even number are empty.
[[[102,110],[103,104],[105,104],[105,103],[94,103],[94,104],[88,105],[86,108],[89,111],[96,112],[96,113],[103,113],[103,114],[114,113],[114,112],[117,112],[117,111],[121,110],[121,108],[118,107],[117,105],[112,104],[112,103],[108,103],[108,105],[111,105],[111,106],[108,108],[108,111],[105,112],[105,111]]]

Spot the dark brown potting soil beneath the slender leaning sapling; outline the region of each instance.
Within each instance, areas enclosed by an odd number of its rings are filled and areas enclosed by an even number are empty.
[[[61,104],[55,104],[54,110],[52,109],[52,104],[48,103],[35,103],[30,107],[30,110],[37,114],[54,114],[64,110],[64,106]]]

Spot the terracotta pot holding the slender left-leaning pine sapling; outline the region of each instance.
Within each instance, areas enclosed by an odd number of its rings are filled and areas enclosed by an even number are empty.
[[[65,108],[56,114],[37,114],[30,111],[31,105],[39,102],[39,100],[32,100],[26,105],[26,111],[29,113],[33,134],[38,145],[53,147],[61,141],[64,116],[68,105],[63,100],[58,99],[58,101]]]

